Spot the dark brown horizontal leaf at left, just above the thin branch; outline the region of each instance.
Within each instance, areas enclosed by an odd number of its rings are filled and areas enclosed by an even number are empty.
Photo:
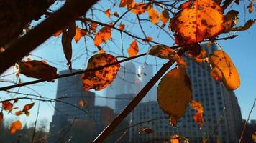
[[[19,65],[19,73],[27,77],[52,81],[57,76],[57,69],[42,61],[19,61],[17,64]]]

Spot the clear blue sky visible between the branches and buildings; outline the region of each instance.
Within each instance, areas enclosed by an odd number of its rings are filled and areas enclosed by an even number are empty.
[[[108,5],[109,7],[111,5]],[[104,5],[104,2],[101,1],[99,4],[99,9],[105,9],[104,7],[108,7]],[[242,7],[242,6],[241,6]],[[115,9],[119,8],[112,8],[112,13],[115,11]],[[242,8],[235,8],[238,11],[243,11]],[[106,9],[105,9],[106,10]],[[119,10],[119,14],[122,14],[125,9]],[[243,24],[243,14],[239,15],[239,24]],[[255,11],[254,14],[251,14],[252,17],[255,17]],[[246,19],[248,19],[250,16],[247,14]],[[127,16],[128,19],[133,19],[131,14],[128,14]],[[108,19],[104,14],[97,15],[96,13],[96,19],[101,19],[101,21],[104,21],[104,23],[109,23],[111,19]],[[115,20],[115,18],[113,18]],[[122,21],[123,23],[127,21]],[[173,40],[170,39],[166,34],[161,31],[158,33],[159,29],[155,29],[153,24],[143,24],[145,26],[146,34],[148,36],[154,37],[154,41],[159,41],[163,42],[164,44],[167,44],[168,46],[173,45]],[[139,34],[137,29],[137,26],[134,26],[132,24],[127,24],[126,29],[129,29],[132,31],[134,34],[142,35],[141,33]],[[239,71],[240,79],[241,79],[241,86],[239,89],[235,90],[235,94],[237,95],[239,105],[241,107],[242,111],[242,118],[247,118],[247,115],[250,112],[250,108],[252,107],[252,102],[253,99],[256,97],[256,46],[255,46],[255,41],[256,41],[256,25],[253,25],[248,31],[241,31],[237,32],[235,34],[238,34],[237,38],[235,39],[229,39],[227,41],[218,41],[218,43],[221,45],[221,47],[224,49],[224,51],[229,54],[229,56],[232,58],[235,66],[237,66],[237,69]],[[170,33],[171,34],[171,33]],[[221,35],[222,36],[222,35]],[[120,42],[120,34],[119,32],[114,32],[112,35],[114,42],[109,41],[108,44],[104,45],[102,44],[102,47],[108,51],[112,50],[115,51],[116,53],[122,54],[122,48],[121,48],[121,42]],[[60,37],[55,38],[51,37],[47,41],[45,41],[44,44],[42,44],[40,47],[35,49],[35,51],[32,51],[31,54],[37,55],[40,57],[43,57],[43,59],[47,59],[49,61],[53,61],[53,63],[48,61],[48,64],[52,66],[57,66],[58,71],[61,71],[63,69],[68,69],[65,66],[65,56],[62,51],[62,46],[61,46],[61,41]],[[129,47],[129,44],[132,42],[132,39],[129,38],[127,35],[123,34],[123,39],[124,39],[124,55],[127,56],[127,51],[126,49]],[[86,38],[86,44],[87,47],[90,51],[97,51],[96,47],[93,45],[93,42],[91,39]],[[142,54],[143,52],[147,51],[149,46],[147,44],[139,44],[140,46],[140,51],[139,54]],[[73,42],[73,67],[75,69],[85,69],[86,68],[86,63],[88,61],[88,58],[93,55],[93,53],[90,53],[90,56],[87,56],[85,54],[86,49],[85,49],[85,43],[84,39],[82,38],[81,41],[76,44]],[[31,59],[40,59],[36,56],[29,56]],[[139,61],[143,63],[145,61],[145,57],[142,57],[140,59],[136,59],[136,61]],[[157,69],[160,68],[161,64],[166,62],[165,60],[160,60],[153,57],[148,57],[147,58],[147,63],[149,64],[158,64],[158,66],[155,68],[155,72]],[[58,64],[55,64],[58,63]],[[7,71],[8,73],[11,73],[13,69],[9,69]],[[21,76],[22,82],[27,82],[33,80],[32,78],[27,78],[24,76]],[[6,79],[9,80],[17,80],[16,77],[9,76],[6,77]],[[0,83],[1,87],[4,87],[6,85],[9,85],[7,83]],[[34,84],[29,86],[29,88],[34,89],[38,93],[42,94],[44,97],[50,97],[50,98],[55,98],[56,94],[56,85],[57,82],[43,82],[40,84]],[[19,90],[19,92],[24,92],[24,93],[29,93],[29,94],[35,94],[34,91],[31,89],[28,89],[27,87],[21,87],[20,89],[13,89],[14,91]],[[0,92],[1,95],[3,96],[2,99],[8,99],[9,96],[14,96],[13,94],[6,94],[6,92]],[[103,91],[101,92],[96,92],[96,94],[103,95]],[[22,105],[30,103],[32,101],[25,100],[25,101],[20,101],[17,105],[19,107],[22,107]],[[23,122],[27,122],[28,124],[32,124],[32,122],[35,122],[35,117],[37,113],[37,105],[38,102],[36,102],[35,107],[31,109],[31,115],[29,117],[14,117],[12,114],[5,114],[6,118],[8,119],[21,119]],[[52,108],[52,105],[50,103],[42,103],[40,104],[40,114],[39,114],[39,119],[45,119],[48,122],[51,121],[52,119],[52,114],[53,114],[54,109]],[[251,119],[256,119],[256,109],[252,112]]]

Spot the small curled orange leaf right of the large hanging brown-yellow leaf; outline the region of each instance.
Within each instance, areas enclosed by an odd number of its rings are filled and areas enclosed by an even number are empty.
[[[196,110],[196,114],[193,116],[193,119],[195,120],[196,123],[198,123],[198,126],[202,127],[204,123],[204,108],[200,102],[196,102],[196,100],[192,100],[190,103],[191,108]]]

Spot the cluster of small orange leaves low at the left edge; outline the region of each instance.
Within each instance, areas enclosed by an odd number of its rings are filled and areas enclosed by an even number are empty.
[[[0,124],[2,122],[4,122],[3,110],[6,111],[7,113],[10,113],[14,109],[18,109],[19,107],[14,107],[14,103],[17,103],[17,102],[18,102],[18,99],[14,99],[13,103],[9,102],[9,101],[1,102],[2,110],[0,112]],[[33,106],[34,106],[34,103],[26,104],[26,105],[24,105],[22,110],[19,110],[19,111],[15,112],[15,115],[19,116],[19,115],[24,113],[27,116],[29,116],[29,114],[30,114],[29,113],[29,109],[31,109]],[[19,120],[12,122],[12,124],[10,125],[10,128],[9,128],[11,134],[14,134],[15,132],[17,132],[17,131],[19,131],[21,129],[22,129],[22,123]]]

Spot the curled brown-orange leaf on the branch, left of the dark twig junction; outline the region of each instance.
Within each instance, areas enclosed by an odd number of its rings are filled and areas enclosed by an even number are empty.
[[[157,56],[162,59],[170,59],[176,61],[179,65],[183,65],[184,67],[187,66],[186,61],[178,56],[178,54],[173,49],[170,49],[168,46],[165,45],[152,46],[152,49],[150,49],[147,54]]]

